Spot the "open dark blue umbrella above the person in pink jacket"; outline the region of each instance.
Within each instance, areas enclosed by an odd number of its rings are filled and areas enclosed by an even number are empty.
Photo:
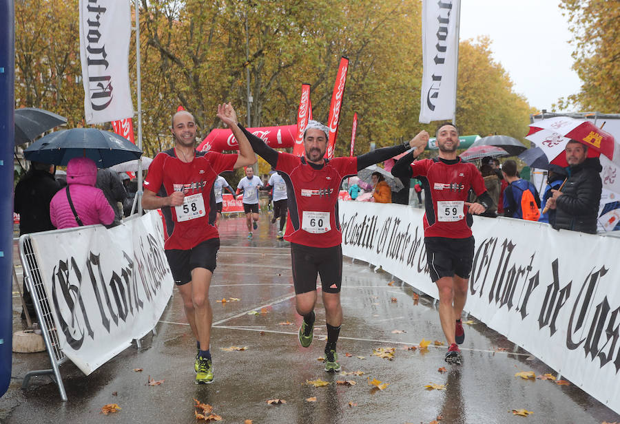
[[[128,160],[139,159],[142,151],[118,134],[96,128],[73,128],[56,131],[40,138],[23,151],[28,160],[67,165],[72,158],[90,158],[98,168],[109,168]]]

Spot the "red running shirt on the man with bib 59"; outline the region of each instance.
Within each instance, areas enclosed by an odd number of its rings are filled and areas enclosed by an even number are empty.
[[[466,202],[470,189],[481,195],[486,191],[484,179],[475,165],[457,160],[437,158],[416,160],[411,164],[413,177],[422,178],[426,196],[424,237],[471,237],[471,215],[467,206],[456,209],[459,202]]]

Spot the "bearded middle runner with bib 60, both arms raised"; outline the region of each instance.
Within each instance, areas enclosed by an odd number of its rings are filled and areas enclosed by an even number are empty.
[[[304,156],[278,152],[260,138],[243,129],[254,151],[279,171],[287,184],[289,218],[285,240],[291,242],[293,284],[296,308],[304,317],[298,338],[302,347],[310,346],[316,305],[316,277],[320,275],[322,300],[327,321],[324,369],[340,371],[336,342],[342,324],[340,284],[342,283],[342,233],[338,222],[338,190],[344,178],[354,176],[383,160],[404,153],[414,140],[428,142],[421,131],[413,140],[395,147],[376,149],[362,156],[324,158],[329,129],[310,120],[304,130]]]

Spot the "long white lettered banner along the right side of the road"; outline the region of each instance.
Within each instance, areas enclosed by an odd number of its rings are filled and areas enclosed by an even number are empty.
[[[338,202],[342,253],[437,299],[423,209]],[[620,413],[620,239],[474,217],[465,309]],[[439,320],[439,317],[437,317]]]

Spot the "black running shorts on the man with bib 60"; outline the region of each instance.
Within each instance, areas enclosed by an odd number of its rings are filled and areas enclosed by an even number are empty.
[[[312,247],[291,243],[295,294],[316,290],[316,276],[321,276],[324,293],[340,293],[342,284],[342,247]]]

